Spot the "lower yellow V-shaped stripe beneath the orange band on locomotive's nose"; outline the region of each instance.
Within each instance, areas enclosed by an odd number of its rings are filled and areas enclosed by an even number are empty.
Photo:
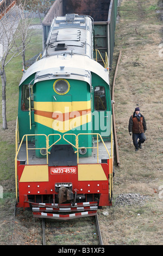
[[[57,130],[62,133],[75,129],[80,125],[84,125],[86,123],[91,122],[91,113],[81,115],[80,117],[76,117],[66,121],[59,121],[57,119],[53,120],[51,118],[42,117],[41,115],[34,115],[34,117],[35,117],[35,122],[45,125],[53,130]]]

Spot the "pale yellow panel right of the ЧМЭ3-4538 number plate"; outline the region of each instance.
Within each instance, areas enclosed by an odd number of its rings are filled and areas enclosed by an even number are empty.
[[[78,180],[108,180],[101,164],[78,164]]]

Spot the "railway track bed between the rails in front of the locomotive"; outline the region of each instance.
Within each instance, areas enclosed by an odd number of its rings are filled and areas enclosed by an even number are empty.
[[[85,245],[92,245],[92,243],[95,245],[103,245],[98,216],[95,215],[87,217],[86,219],[86,230],[83,230],[82,226],[80,226],[82,222],[79,219],[69,222],[58,222],[42,218],[42,245],[58,245],[59,237],[61,237],[60,240],[62,240],[61,245],[63,245],[64,240],[67,244],[68,240],[70,240],[71,245],[74,245],[73,239],[75,245],[77,245],[76,243],[78,243],[78,240]],[[84,240],[83,238],[85,236],[85,231],[89,232],[88,230],[90,231],[90,234],[87,235],[87,237],[89,237],[89,241]]]

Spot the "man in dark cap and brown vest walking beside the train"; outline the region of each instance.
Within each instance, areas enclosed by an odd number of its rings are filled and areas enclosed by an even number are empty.
[[[147,130],[146,120],[140,113],[140,108],[136,107],[134,114],[131,115],[129,119],[128,131],[131,135],[133,132],[133,144],[135,146],[135,151],[142,148],[142,143],[145,142],[146,136],[145,132]]]

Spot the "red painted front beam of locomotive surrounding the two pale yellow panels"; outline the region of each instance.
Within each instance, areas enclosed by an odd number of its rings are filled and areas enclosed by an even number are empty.
[[[101,163],[107,180],[102,181],[78,181],[78,166],[76,167],[76,173],[66,174],[51,174],[51,169],[56,167],[48,167],[49,181],[42,182],[20,182],[24,164],[18,166],[18,189],[19,189],[19,202],[18,207],[29,207],[27,202],[28,194],[57,194],[55,192],[55,183],[72,183],[72,191],[77,194],[101,194],[99,200],[99,206],[110,205],[109,202],[109,165],[107,163]],[[31,166],[32,168],[32,166]],[[59,167],[61,168],[61,167]],[[63,167],[65,168],[65,167]],[[67,167],[70,168],[70,167]],[[30,193],[29,193],[30,192]]]

